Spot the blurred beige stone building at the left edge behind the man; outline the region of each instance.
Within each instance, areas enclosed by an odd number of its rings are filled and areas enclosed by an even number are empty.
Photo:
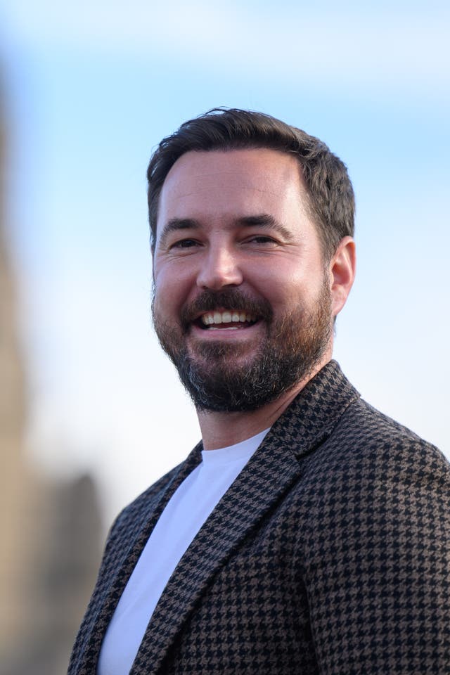
[[[56,484],[24,450],[27,378],[8,246],[6,141],[0,104],[0,671],[61,675],[94,585],[101,523],[91,477]]]

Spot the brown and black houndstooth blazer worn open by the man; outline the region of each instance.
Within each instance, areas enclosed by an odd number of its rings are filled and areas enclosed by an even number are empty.
[[[200,449],[117,518],[69,675],[95,675],[127,579]],[[449,674],[449,498],[442,454],[331,361],[200,529],[131,674]]]

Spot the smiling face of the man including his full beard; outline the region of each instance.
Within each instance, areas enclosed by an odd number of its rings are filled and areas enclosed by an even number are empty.
[[[254,410],[330,350],[330,275],[295,158],[189,152],[160,194],[153,318],[198,409]]]

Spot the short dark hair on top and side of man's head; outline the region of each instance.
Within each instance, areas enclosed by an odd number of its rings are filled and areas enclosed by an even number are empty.
[[[294,155],[307,189],[309,212],[321,238],[324,257],[354,233],[354,193],[344,162],[328,146],[302,129],[271,115],[238,108],[213,108],[181,124],[162,139],[147,170],[148,217],[152,247],[156,239],[162,184],[181,155],[191,150],[270,148]]]

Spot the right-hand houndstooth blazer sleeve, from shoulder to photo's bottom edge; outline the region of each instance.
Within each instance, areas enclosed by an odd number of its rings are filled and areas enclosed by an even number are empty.
[[[352,672],[443,671],[450,597],[444,455],[354,399],[303,458],[292,501],[293,569],[307,587],[323,667],[338,671],[347,660]],[[406,643],[419,646],[399,655]]]

